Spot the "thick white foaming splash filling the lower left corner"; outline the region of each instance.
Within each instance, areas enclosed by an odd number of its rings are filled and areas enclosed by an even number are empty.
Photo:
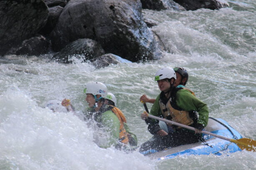
[[[41,108],[18,87],[0,96],[0,163],[15,169],[154,169],[138,152],[102,149],[72,113]]]

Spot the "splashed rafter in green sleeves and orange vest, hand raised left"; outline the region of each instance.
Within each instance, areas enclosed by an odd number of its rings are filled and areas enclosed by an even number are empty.
[[[95,128],[97,132],[93,134],[95,143],[101,148],[109,148],[112,145],[118,149],[128,148],[129,141],[124,128],[126,118],[119,109],[105,103],[108,94],[105,84],[88,83],[85,85],[84,93],[88,108],[86,108],[83,120],[88,126]],[[63,99],[61,104],[68,111],[74,112],[69,99]]]

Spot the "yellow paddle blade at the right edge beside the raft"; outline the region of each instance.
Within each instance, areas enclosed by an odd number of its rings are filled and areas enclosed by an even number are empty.
[[[246,149],[248,151],[256,152],[256,140],[241,138],[238,140],[231,139],[230,141],[236,143],[241,150]]]

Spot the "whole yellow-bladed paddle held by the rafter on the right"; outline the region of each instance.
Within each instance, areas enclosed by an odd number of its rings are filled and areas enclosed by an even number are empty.
[[[144,105],[144,107],[145,107],[145,109],[148,113],[148,107],[147,107],[146,103],[143,103],[143,105]],[[147,115],[148,115],[149,118],[153,118],[153,119],[156,119],[156,120],[159,120],[159,121],[164,121],[166,123],[171,123],[173,125],[180,126],[180,127],[195,131],[195,128],[193,128],[191,126],[186,126],[186,125],[183,125],[181,123],[169,121],[165,118],[159,118],[157,116],[153,116],[153,115],[150,115],[150,114],[147,114]],[[236,143],[236,145],[238,145],[238,147],[241,150],[246,149],[248,151],[256,152],[256,140],[252,140],[252,139],[249,139],[249,138],[241,138],[241,139],[235,140],[235,139],[226,138],[224,136],[219,136],[219,135],[216,135],[216,134],[208,132],[208,131],[201,131],[201,133],[208,134],[208,135],[211,135],[211,136],[215,136],[216,138],[220,138],[220,139],[223,139],[223,140],[227,140],[229,142]]]

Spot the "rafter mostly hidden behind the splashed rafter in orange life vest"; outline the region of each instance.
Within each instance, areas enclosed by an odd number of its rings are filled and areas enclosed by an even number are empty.
[[[105,104],[114,106],[115,109],[120,111],[120,109],[116,107],[116,97],[115,97],[115,95],[110,93],[110,92],[108,92],[108,95],[105,97]],[[125,131],[127,132],[127,137],[128,137],[128,140],[129,140],[129,144],[131,146],[137,146],[138,140],[137,140],[136,135],[130,131],[130,128],[128,127],[126,122],[124,122],[123,125],[124,125],[124,128],[125,128]]]

